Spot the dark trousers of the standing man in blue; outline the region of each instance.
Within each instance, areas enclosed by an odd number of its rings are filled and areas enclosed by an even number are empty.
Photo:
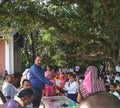
[[[42,98],[42,90],[33,88],[34,92],[34,100],[33,100],[33,107],[39,108],[41,98]]]

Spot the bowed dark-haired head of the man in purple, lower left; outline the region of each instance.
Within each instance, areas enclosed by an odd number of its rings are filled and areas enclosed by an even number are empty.
[[[26,106],[34,100],[33,90],[31,88],[24,89],[18,94],[18,97],[21,98],[24,106]]]

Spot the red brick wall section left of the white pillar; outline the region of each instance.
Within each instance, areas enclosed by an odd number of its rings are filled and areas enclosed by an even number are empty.
[[[0,77],[5,71],[5,41],[0,41]]]

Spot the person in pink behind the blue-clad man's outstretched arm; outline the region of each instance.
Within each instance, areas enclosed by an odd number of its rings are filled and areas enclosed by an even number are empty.
[[[45,77],[48,78],[53,84],[55,84],[55,80],[53,77],[53,72],[50,66],[47,66],[47,71],[45,72]],[[54,96],[54,86],[53,85],[46,85],[45,87],[45,96]]]

